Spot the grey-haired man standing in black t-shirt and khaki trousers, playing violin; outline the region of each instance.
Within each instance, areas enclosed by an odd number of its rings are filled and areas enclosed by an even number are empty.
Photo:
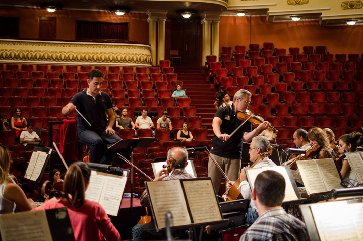
[[[269,123],[264,121],[252,130],[251,122],[247,121],[230,137],[230,134],[242,124],[237,113],[246,111],[251,103],[251,96],[251,92],[247,90],[238,90],[233,97],[233,104],[219,108],[213,117],[214,137],[210,152],[230,180],[238,179],[243,142],[251,141],[253,137],[269,126]],[[208,162],[208,177],[212,178],[215,192],[218,193],[222,174],[211,157]]]

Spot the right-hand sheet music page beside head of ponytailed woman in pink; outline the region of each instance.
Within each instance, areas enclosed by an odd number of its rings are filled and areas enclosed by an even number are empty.
[[[117,216],[126,180],[126,177],[107,174],[99,200],[99,204],[104,208],[107,214]]]

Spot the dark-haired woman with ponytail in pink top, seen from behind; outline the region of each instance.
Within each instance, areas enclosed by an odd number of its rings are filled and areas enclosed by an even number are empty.
[[[63,183],[64,198],[51,199],[38,210],[67,207],[76,240],[121,240],[103,207],[85,199],[91,176],[90,168],[83,162],[74,162],[68,169]]]

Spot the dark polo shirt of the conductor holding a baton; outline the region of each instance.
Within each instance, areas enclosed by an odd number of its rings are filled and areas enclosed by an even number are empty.
[[[93,96],[87,95],[86,91],[87,89],[78,92],[73,96],[70,103],[77,107],[77,110],[81,112],[92,126],[77,113],[77,131],[86,129],[100,133],[107,128],[106,110],[112,108],[111,98],[107,93],[100,91],[95,101]]]

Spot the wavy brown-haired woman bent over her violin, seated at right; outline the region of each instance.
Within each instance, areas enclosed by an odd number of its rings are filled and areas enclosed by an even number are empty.
[[[332,158],[333,157],[333,149],[331,148],[330,142],[326,133],[318,128],[314,127],[310,129],[306,136],[307,140],[310,141],[310,145],[313,146],[315,143],[320,145],[320,151],[315,156],[316,159],[325,159],[325,158]]]

